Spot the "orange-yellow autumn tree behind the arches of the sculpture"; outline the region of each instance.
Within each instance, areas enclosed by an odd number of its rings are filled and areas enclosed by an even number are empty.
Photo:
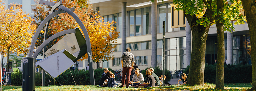
[[[52,1],[57,2],[57,1]],[[96,62],[99,67],[101,61],[107,61],[114,58],[113,48],[115,47],[112,43],[115,43],[118,38],[118,33],[114,31],[116,27],[113,27],[115,22],[103,22],[103,17],[99,15],[99,12],[95,12],[92,9],[92,4],[78,4],[77,0],[62,0],[63,6],[67,8],[75,8],[74,13],[80,18],[85,25],[88,35],[91,41],[92,48],[92,60]],[[49,11],[41,9],[42,5],[37,5],[34,9],[35,17],[40,18],[45,16]],[[50,9],[48,9],[50,10]],[[44,15],[40,12],[43,12]],[[38,24],[42,21],[38,21]],[[72,29],[79,27],[78,23],[67,13],[59,14],[51,20],[49,24],[48,35],[53,35],[63,30]],[[80,27],[79,27],[80,29]],[[81,29],[80,29],[81,30]],[[83,31],[81,31],[83,33]],[[50,36],[49,36],[50,37]],[[42,40],[40,40],[42,41]],[[56,42],[55,42],[56,43]],[[38,45],[40,46],[40,45]],[[50,48],[50,47],[48,47]],[[47,48],[46,48],[47,49]],[[80,60],[86,60],[87,54],[84,55]]]

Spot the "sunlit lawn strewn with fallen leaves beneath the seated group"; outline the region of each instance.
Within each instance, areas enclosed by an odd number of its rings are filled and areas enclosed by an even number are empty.
[[[205,86],[165,86],[165,87],[152,87],[152,88],[102,88],[98,86],[91,86],[91,85],[69,85],[69,86],[36,86],[36,91],[87,91],[87,90],[140,90],[140,91],[150,91],[150,90],[193,90],[193,91],[210,91],[210,90],[217,90],[217,91],[244,91],[250,89],[252,87],[251,83],[236,83],[236,84],[225,84],[225,89],[215,89],[215,84],[205,83]],[[21,91],[21,86],[3,86],[3,91]]]

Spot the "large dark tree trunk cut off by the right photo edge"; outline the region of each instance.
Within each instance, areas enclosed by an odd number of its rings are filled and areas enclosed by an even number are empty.
[[[250,41],[251,41],[251,56],[252,56],[252,88],[256,90],[256,4],[255,0],[242,0],[243,9],[245,11],[246,20],[248,22]]]

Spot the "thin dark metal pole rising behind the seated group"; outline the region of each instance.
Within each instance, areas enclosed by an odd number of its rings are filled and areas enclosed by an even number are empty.
[[[163,55],[162,55],[162,66],[163,66],[163,80],[162,80],[162,83],[163,83],[163,87],[165,86],[165,21],[163,21],[163,28],[164,28],[164,32],[163,32]]]

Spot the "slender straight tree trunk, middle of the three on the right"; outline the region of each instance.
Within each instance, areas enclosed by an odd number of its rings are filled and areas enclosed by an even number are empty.
[[[223,14],[223,0],[217,0],[217,12]],[[216,89],[224,89],[224,61],[225,61],[225,37],[224,37],[224,19],[220,18],[223,15],[219,13],[216,20],[217,38],[218,38],[218,54],[216,67]]]

